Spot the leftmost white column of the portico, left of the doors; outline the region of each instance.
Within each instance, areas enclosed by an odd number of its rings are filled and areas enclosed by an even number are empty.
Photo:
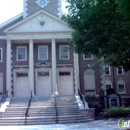
[[[11,41],[7,40],[7,51],[6,51],[6,90],[8,96],[11,96]]]

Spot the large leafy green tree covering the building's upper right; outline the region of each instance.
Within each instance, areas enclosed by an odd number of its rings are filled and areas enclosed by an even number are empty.
[[[130,23],[116,0],[66,0],[62,19],[72,28],[76,53],[92,53],[112,66],[130,70]]]

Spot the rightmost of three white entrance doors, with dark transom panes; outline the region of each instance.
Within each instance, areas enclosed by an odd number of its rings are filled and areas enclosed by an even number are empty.
[[[73,95],[73,78],[71,71],[59,71],[58,93],[59,95]]]

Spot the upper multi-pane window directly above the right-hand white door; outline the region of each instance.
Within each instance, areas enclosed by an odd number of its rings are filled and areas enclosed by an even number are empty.
[[[69,59],[69,46],[68,45],[60,45],[60,59],[68,60]]]

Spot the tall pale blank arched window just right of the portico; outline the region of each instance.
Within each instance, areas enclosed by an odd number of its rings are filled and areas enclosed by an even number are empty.
[[[84,87],[86,91],[95,91],[95,73],[92,69],[84,71]]]

